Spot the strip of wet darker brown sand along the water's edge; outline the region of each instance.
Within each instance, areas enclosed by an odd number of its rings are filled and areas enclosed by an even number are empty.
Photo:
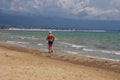
[[[106,60],[106,59],[81,56],[77,54],[67,54],[61,52],[55,52],[52,54],[52,56],[49,56],[48,52],[44,50],[38,50],[34,48],[28,48],[28,47],[8,44],[8,43],[0,43],[0,47],[10,49],[13,51],[26,52],[34,55],[39,55],[53,60],[60,60],[73,64],[84,65],[88,67],[99,68],[103,70],[120,73],[120,61]]]

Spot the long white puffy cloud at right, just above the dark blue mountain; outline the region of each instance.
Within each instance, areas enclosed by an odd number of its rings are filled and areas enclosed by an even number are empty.
[[[88,13],[85,16],[85,19],[96,19],[96,20],[119,20],[120,11],[118,9],[107,9],[102,10],[95,7],[87,7],[86,12]]]

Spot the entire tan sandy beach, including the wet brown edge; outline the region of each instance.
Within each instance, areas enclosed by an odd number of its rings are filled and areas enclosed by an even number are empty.
[[[120,61],[0,43],[0,80],[120,80]]]

